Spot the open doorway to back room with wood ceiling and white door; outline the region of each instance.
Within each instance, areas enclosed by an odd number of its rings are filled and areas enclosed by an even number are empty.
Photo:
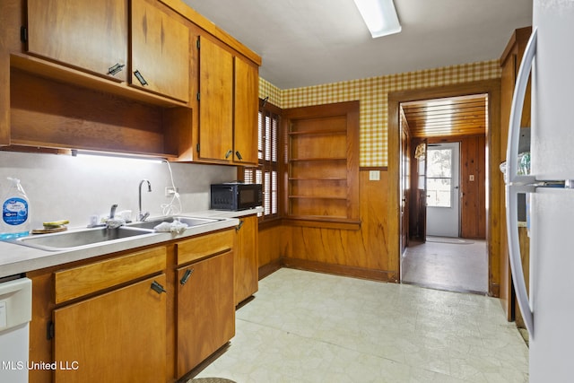
[[[401,141],[411,137],[406,146],[413,162],[406,175],[413,198],[406,209],[415,220],[424,217],[423,224],[409,222],[418,238],[411,237],[401,252],[401,281],[485,294],[488,94],[406,101],[399,103],[399,112],[404,118],[400,128],[409,130],[399,135]],[[417,156],[421,145],[425,153]],[[402,190],[400,196],[404,201]]]

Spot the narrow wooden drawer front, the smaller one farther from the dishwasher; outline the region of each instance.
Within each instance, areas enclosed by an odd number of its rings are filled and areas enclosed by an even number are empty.
[[[220,254],[233,248],[233,231],[220,231],[178,242],[178,265]]]

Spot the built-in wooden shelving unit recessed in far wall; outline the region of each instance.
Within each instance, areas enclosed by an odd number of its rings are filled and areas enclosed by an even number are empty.
[[[286,212],[291,219],[349,222],[358,218],[358,121],[352,104],[288,113]],[[322,114],[325,113],[325,114]],[[356,204],[356,205],[355,205]]]

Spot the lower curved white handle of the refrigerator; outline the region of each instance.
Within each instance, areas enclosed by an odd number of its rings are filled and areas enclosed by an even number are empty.
[[[517,295],[518,307],[524,318],[526,329],[534,338],[534,313],[530,307],[528,292],[526,291],[526,281],[522,268],[522,258],[520,257],[520,243],[518,241],[518,195],[524,193],[534,193],[533,185],[507,185],[506,186],[506,230],[509,238],[509,262],[512,272],[512,283]]]

